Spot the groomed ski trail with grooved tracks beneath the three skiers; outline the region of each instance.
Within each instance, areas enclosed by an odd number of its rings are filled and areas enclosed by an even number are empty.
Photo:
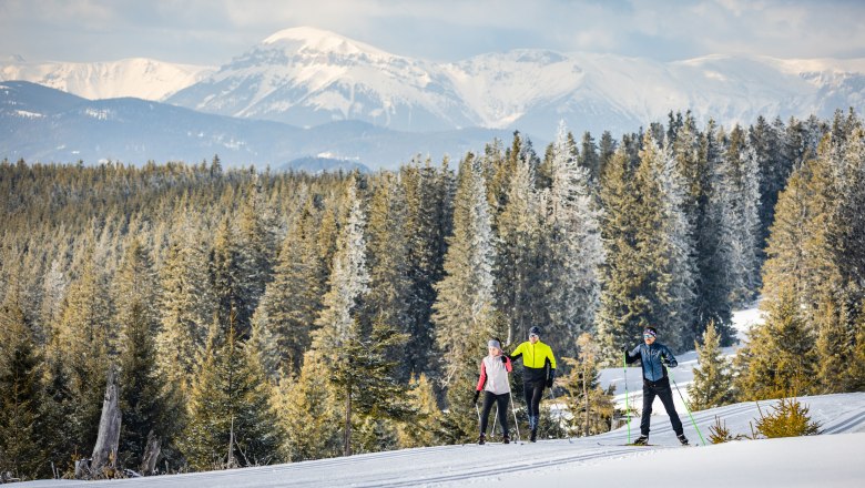
[[[812,420],[820,423],[821,433],[865,433],[865,393],[803,397]],[[766,415],[774,401],[761,401],[760,408]],[[700,437],[688,414],[680,411],[685,435],[692,446],[700,444]],[[715,417],[725,423],[735,436],[751,435],[750,423],[760,418],[755,403],[730,405],[694,414],[703,437],[708,439],[709,427]],[[631,423],[631,440],[639,436],[639,418]],[[516,440],[516,439],[515,439]],[[652,417],[650,441],[653,446],[623,446],[628,441],[628,429],[622,427],[611,433],[588,438],[539,440],[536,444],[474,444],[439,446],[419,449],[404,449],[386,453],[356,455],[346,458],[319,459],[314,461],[275,465],[225,471],[195,472],[176,476],[160,476],[98,484],[81,481],[44,480],[19,484],[30,487],[75,486],[129,486],[129,487],[409,487],[409,486],[458,486],[489,480],[491,477],[507,478],[508,475],[538,469],[558,469],[602,462],[608,459],[632,456],[652,456],[660,450],[681,449],[665,415]],[[712,447],[708,447],[711,449]]]

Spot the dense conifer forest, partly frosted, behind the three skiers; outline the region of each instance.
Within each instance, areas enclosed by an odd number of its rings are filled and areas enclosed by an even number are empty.
[[[547,435],[610,428],[597,372],[645,325],[698,348],[695,407],[865,389],[855,113],[553,139],[372,174],[3,161],[0,471],[73,476],[112,385],[144,475],[461,443],[487,340],[533,325],[599,405]]]

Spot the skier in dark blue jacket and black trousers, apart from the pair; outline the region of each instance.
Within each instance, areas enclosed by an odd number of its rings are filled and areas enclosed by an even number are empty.
[[[640,420],[640,437],[633,444],[641,446],[649,444],[649,423],[652,416],[652,404],[657,396],[661,398],[661,403],[664,405],[664,409],[666,409],[666,415],[670,416],[670,424],[673,425],[673,431],[675,431],[679,441],[686,446],[688,438],[682,429],[682,420],[679,419],[679,414],[675,413],[673,390],[670,389],[670,377],[666,375],[666,368],[664,367],[674,368],[679,366],[679,363],[669,347],[655,342],[657,337],[658,331],[654,327],[645,327],[645,331],[643,331],[644,344],[640,344],[631,350],[624,349],[625,360],[633,363],[640,359],[643,369],[643,416]]]

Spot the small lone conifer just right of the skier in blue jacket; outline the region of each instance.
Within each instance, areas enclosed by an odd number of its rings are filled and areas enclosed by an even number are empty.
[[[705,410],[733,403],[733,374],[730,362],[721,350],[721,337],[710,322],[703,333],[703,344],[694,342],[699,366],[694,382],[688,386],[691,408]]]

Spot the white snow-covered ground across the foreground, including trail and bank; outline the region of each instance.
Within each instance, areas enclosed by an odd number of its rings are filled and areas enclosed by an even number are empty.
[[[750,312],[755,319],[756,312]],[[743,315],[749,315],[743,314]],[[732,350],[730,352],[732,354]],[[689,382],[693,353],[680,357],[675,372]],[[692,367],[693,365],[691,365]],[[612,372],[612,370],[611,370]],[[619,368],[621,374],[621,368]],[[639,368],[629,368],[630,389],[639,392]],[[681,385],[680,385],[681,387]],[[622,388],[623,390],[623,388]],[[683,394],[685,394],[683,389]],[[622,396],[623,399],[623,396]],[[623,446],[639,434],[639,421],[587,438],[537,444],[440,446],[320,459],[260,468],[196,472],[115,481],[95,486],[125,487],[862,487],[865,486],[865,393],[803,397],[822,435],[786,439],[740,440],[679,447],[663,408],[655,409],[653,446]],[[763,413],[774,401],[761,401]],[[681,417],[693,445],[708,438],[720,419],[732,435],[752,434],[760,418],[755,403],[729,405]],[[92,482],[44,480],[24,487],[84,487]]]

